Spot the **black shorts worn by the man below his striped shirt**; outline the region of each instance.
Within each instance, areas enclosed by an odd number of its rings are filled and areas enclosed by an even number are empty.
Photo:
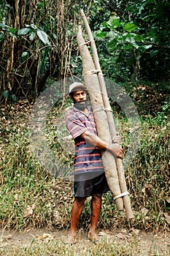
[[[93,194],[104,194],[109,190],[105,174],[91,178],[88,181],[74,181],[74,197],[90,197]]]

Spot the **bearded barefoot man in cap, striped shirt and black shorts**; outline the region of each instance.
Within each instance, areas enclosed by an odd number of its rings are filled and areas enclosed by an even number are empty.
[[[100,149],[109,150],[115,157],[123,158],[123,149],[118,143],[108,144],[98,138],[93,112],[88,108],[87,94],[82,83],[69,86],[69,96],[74,102],[66,113],[66,127],[75,143],[74,156],[74,203],[72,206],[71,230],[66,244],[76,242],[77,223],[87,197],[91,196],[91,219],[88,238],[98,241],[96,226],[101,211],[101,195],[109,190],[104,175]],[[120,142],[118,138],[117,142]]]

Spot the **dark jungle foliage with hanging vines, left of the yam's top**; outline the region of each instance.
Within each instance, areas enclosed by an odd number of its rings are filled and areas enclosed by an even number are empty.
[[[77,9],[82,4],[1,1],[1,90],[5,98],[36,97],[50,80],[66,77],[71,52],[77,51]]]

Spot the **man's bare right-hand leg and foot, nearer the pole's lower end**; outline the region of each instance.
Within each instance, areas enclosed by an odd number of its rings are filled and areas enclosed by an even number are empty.
[[[101,212],[101,195],[93,195],[91,200],[91,222],[90,230],[88,233],[88,238],[92,241],[98,241],[98,235],[96,233],[96,227],[98,223],[98,218]]]

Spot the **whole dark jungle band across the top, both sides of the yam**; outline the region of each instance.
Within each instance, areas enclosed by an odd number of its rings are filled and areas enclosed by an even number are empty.
[[[167,90],[168,0],[1,0],[0,7],[1,100],[35,99],[53,81],[81,75],[76,40],[81,8],[89,18],[107,78],[142,78],[161,82]]]

